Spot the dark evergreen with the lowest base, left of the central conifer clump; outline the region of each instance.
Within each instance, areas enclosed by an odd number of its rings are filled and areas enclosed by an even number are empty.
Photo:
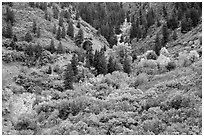
[[[73,82],[74,82],[74,71],[72,69],[72,65],[68,64],[67,68],[65,69],[64,73],[64,89],[73,89]]]

